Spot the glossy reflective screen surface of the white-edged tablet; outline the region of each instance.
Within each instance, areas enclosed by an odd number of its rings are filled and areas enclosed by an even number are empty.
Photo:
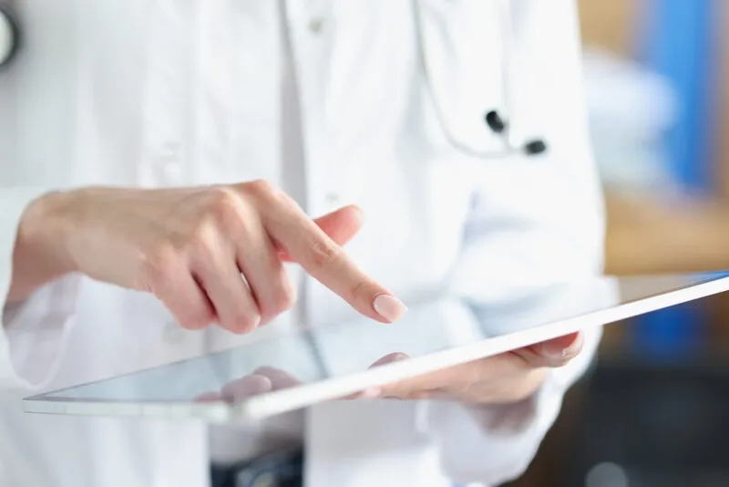
[[[595,316],[584,323],[601,325],[727,287],[723,275],[601,277],[524,288],[490,301],[440,297],[408,304],[409,311],[395,324],[362,318],[289,330],[221,353],[29,398],[26,410],[67,412],[59,406],[64,402],[118,405],[114,410],[93,409],[102,414],[123,413],[122,404],[138,412],[135,406],[145,404],[232,404],[366,371],[392,354],[416,359],[499,339],[493,352],[502,352],[508,347],[505,337],[519,337],[514,344],[523,346],[532,332],[534,343],[549,337],[549,326],[576,317]],[[688,293],[692,289],[693,295]],[[642,302],[653,305],[628,307]],[[623,313],[611,314],[621,309]],[[488,355],[488,347],[482,349]]]

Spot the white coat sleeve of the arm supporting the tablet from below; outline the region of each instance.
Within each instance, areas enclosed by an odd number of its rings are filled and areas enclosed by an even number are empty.
[[[549,151],[482,164],[462,253],[449,282],[453,295],[476,301],[498,299],[515,286],[602,272],[605,219],[583,103],[576,5],[573,0],[513,5],[514,56],[529,67],[526,78],[539,79],[536,88],[519,92],[525,97],[521,106],[549,116],[539,127]],[[447,474],[457,482],[488,486],[519,476],[557,417],[563,394],[588,367],[599,337],[599,331],[588,331],[580,357],[552,370],[541,389],[519,404],[425,403],[427,429]]]

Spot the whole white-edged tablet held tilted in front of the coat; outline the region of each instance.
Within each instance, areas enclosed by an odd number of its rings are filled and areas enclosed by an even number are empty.
[[[186,361],[46,392],[29,413],[257,420],[729,289],[724,274],[596,277],[486,299],[408,303],[394,324],[301,327]],[[255,332],[253,332],[255,333]],[[403,360],[373,367],[381,357]]]

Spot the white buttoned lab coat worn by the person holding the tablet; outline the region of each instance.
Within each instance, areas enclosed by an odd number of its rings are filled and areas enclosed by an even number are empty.
[[[478,149],[500,147],[482,121],[505,99],[499,3],[420,2],[440,104],[458,139]],[[366,223],[350,254],[406,302],[435,289],[488,298],[513,285],[600,273],[603,218],[574,2],[514,2],[507,55],[520,76],[509,87],[509,115],[515,130],[548,140],[549,153],[489,160],[458,152],[444,138],[417,63],[413,5],[15,1],[25,42],[0,77],[0,296],[27,202],[48,189],[88,184],[262,178],[312,215],[355,202]],[[303,286],[309,319],[347,315],[323,286]],[[293,314],[272,326],[294,326]],[[266,444],[272,431],[279,431],[277,440],[295,439],[304,413],[247,436],[216,430],[210,446],[199,423],[21,411],[30,391],[241,339],[220,330],[180,331],[152,296],[75,275],[7,306],[0,485],[203,486],[210,449],[252,454],[252,440]],[[456,403],[309,409],[307,485],[503,482],[529,463],[589,356],[551,373],[529,408],[512,407],[519,420],[506,426],[478,420],[496,409]]]

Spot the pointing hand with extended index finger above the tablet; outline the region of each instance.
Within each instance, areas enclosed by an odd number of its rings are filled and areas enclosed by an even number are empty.
[[[294,261],[364,316],[394,321],[405,306],[340,246],[361,224],[351,206],[313,221],[266,181],[54,193],[21,222],[11,299],[42,284],[39,268],[62,268],[152,293],[186,328],[242,333],[292,306]]]

